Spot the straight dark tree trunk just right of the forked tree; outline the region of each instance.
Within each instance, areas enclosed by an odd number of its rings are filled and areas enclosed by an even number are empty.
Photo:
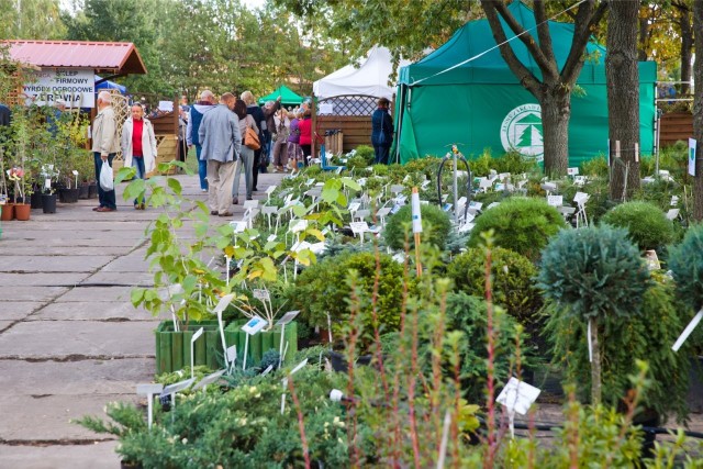
[[[637,25],[639,3],[610,1],[607,19],[607,82],[609,135],[611,139],[612,200],[623,201],[639,188],[639,74],[637,68]],[[617,160],[615,142],[620,141]],[[627,193],[625,189],[627,174]]]

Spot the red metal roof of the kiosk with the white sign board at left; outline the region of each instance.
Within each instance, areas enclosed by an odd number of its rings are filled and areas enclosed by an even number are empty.
[[[146,74],[132,43],[8,41],[13,60],[37,67],[92,68],[96,72]]]

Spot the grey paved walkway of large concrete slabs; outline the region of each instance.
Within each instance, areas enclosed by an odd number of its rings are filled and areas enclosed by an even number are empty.
[[[259,189],[281,176],[260,175]],[[178,178],[185,197],[205,200],[197,176]],[[124,186],[114,213],[80,200],[2,223],[0,469],[119,467],[113,438],[69,421],[136,401],[135,384],[154,377],[157,320],[132,308],[130,290],[152,283],[144,230],[158,212],[135,211]]]

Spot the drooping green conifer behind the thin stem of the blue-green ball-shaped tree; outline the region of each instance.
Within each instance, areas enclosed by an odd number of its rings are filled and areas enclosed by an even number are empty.
[[[688,415],[687,392],[689,354],[671,349],[685,325],[687,309],[674,295],[673,284],[659,276],[643,297],[641,314],[626,322],[604,317],[600,323],[603,360],[604,403],[618,406],[632,388],[628,377],[637,372],[636,360],[649,362],[649,373],[641,395],[643,405],[658,415]],[[556,308],[547,308],[546,333],[554,345],[554,357],[566,369],[566,379],[588,389],[591,381],[585,322]],[[676,383],[672,386],[672,383]]]

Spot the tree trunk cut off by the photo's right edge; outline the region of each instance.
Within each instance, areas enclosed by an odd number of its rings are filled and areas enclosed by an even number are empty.
[[[693,1],[693,31],[703,31],[703,0]],[[699,34],[699,44],[703,35]],[[693,137],[698,142],[695,177],[693,178],[693,217],[703,220],[703,54],[695,54],[693,66],[695,90],[693,96]]]

